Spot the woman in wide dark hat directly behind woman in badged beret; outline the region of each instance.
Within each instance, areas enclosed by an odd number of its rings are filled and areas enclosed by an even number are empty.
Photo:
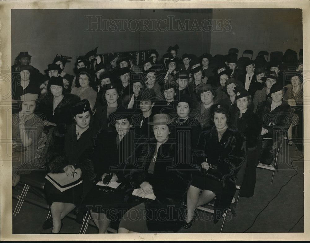
[[[234,116],[238,108],[236,106],[236,93],[234,92],[235,87],[242,87],[243,85],[240,81],[236,79],[228,79],[226,81],[225,87],[223,90],[226,90],[228,98],[219,100],[220,103],[225,103],[229,106],[229,115]]]

